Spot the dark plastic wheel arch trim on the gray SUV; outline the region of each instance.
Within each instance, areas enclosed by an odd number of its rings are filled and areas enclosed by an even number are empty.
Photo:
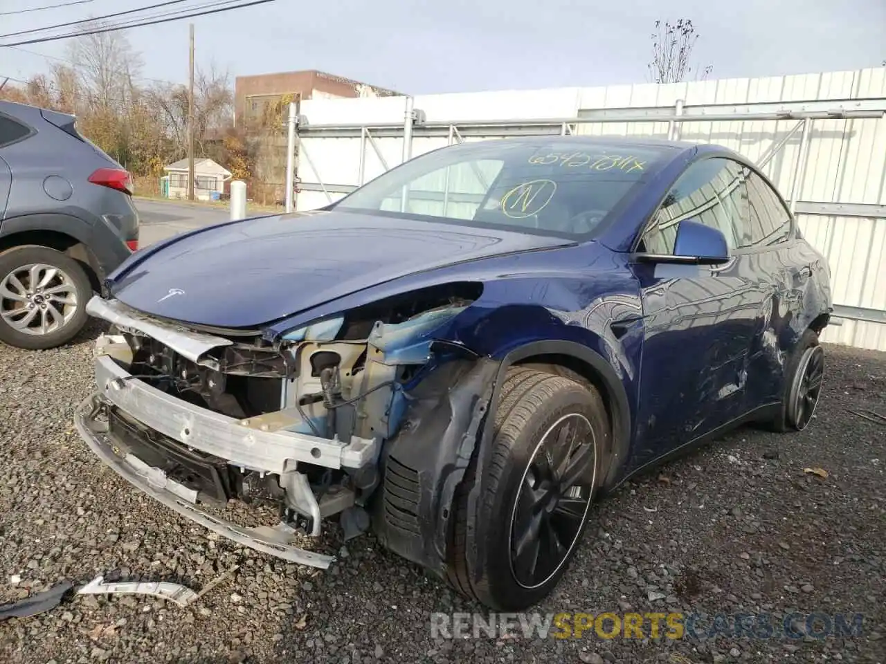
[[[55,218],[57,221],[45,225],[43,222],[46,217]],[[53,228],[58,220],[64,219],[71,219],[73,223],[66,224],[64,230]],[[0,226],[0,253],[25,246],[47,247],[61,251],[83,267],[92,289],[101,292],[102,271],[96,255],[89,249],[87,243],[89,229],[84,225],[82,229],[84,232],[78,232],[81,229],[74,226],[78,223],[83,224],[74,218],[44,214],[4,220]],[[73,233],[69,232],[72,230]]]

